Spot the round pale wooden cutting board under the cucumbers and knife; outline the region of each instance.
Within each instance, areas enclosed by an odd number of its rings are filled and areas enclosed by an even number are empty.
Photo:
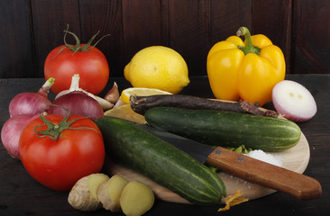
[[[280,157],[284,168],[298,172],[300,174],[302,174],[307,168],[310,156],[308,142],[303,133],[301,133],[301,138],[295,147],[281,152],[271,152],[270,154],[276,157]],[[106,160],[109,159],[107,158]],[[150,178],[138,174],[127,167],[106,161],[105,170],[111,175],[122,175],[127,180],[136,180],[147,184],[151,187],[155,195],[160,200],[167,202],[189,203],[187,200],[180,197],[177,193],[171,192],[169,189],[153,182]],[[237,190],[241,190],[243,197],[252,200],[276,192],[270,188],[263,187],[259,184],[249,183],[241,178],[228,175],[223,172],[219,172],[218,175],[225,183],[227,195],[232,195],[236,193]]]

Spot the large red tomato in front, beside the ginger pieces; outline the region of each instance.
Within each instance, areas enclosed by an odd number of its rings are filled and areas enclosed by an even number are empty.
[[[67,122],[83,116],[69,116]],[[46,115],[46,119],[59,124],[63,116]],[[31,121],[23,130],[19,151],[23,166],[39,183],[57,191],[69,191],[83,176],[97,173],[105,160],[105,147],[100,130],[87,118],[69,125],[71,128],[90,129],[62,130],[58,139],[40,137],[35,126],[43,125],[41,118]],[[36,128],[46,130],[48,126]],[[93,130],[92,130],[93,129]]]

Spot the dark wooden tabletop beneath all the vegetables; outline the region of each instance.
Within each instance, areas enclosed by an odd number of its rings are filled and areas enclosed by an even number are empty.
[[[145,215],[328,215],[330,213],[330,75],[291,75],[287,79],[305,85],[315,96],[316,116],[299,123],[307,137],[310,160],[305,175],[316,178],[323,187],[321,198],[299,201],[285,193],[273,193],[257,200],[245,202],[230,211],[217,212],[219,206],[196,206],[156,201]],[[213,97],[206,76],[190,77],[191,83],[181,94]],[[120,90],[130,86],[124,78],[116,81]],[[0,125],[9,118],[8,104],[15,94],[36,92],[43,79],[0,79]],[[110,85],[110,84],[109,84]],[[112,85],[112,84],[111,84]],[[109,86],[108,86],[109,87]],[[50,94],[50,99],[53,98]],[[272,104],[266,104],[272,108]],[[0,145],[0,215],[122,215],[109,211],[77,211],[67,202],[68,193],[52,191],[38,184],[24,170],[18,160],[9,157]]]

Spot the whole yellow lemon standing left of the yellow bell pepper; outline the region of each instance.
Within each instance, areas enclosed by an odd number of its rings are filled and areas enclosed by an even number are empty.
[[[163,46],[138,51],[124,67],[124,77],[133,87],[157,88],[172,94],[178,94],[190,82],[184,58]]]

